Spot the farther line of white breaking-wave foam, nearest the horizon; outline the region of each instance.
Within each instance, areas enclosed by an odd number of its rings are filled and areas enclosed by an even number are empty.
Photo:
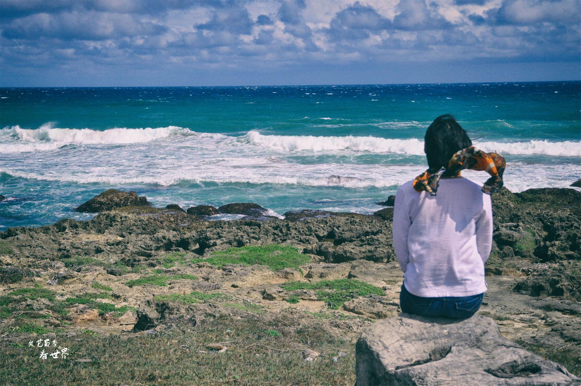
[[[329,119],[329,118],[323,118]],[[503,122],[504,123],[504,122]],[[377,126],[391,128],[405,127],[412,122],[381,123]],[[398,126],[399,125],[399,126]],[[191,138],[184,145],[210,149],[211,146],[236,145],[236,150],[243,151],[244,146],[260,146],[277,152],[371,152],[396,153],[407,155],[424,155],[424,142],[417,138],[392,139],[379,137],[315,137],[313,135],[265,135],[258,131],[249,131],[242,137],[229,137],[223,134],[196,133],[188,128],[178,126],[158,128],[111,128],[98,131],[88,128],[55,128],[47,123],[36,130],[19,126],[0,129],[0,153],[20,153],[35,151],[55,151],[63,146],[76,145],[131,145],[145,144],[151,141],[182,142],[183,137]],[[242,147],[241,147],[242,146]],[[547,155],[564,157],[581,157],[581,141],[522,141],[522,142],[475,142],[475,146],[485,151],[496,151],[512,155]],[[256,151],[249,148],[248,151]]]

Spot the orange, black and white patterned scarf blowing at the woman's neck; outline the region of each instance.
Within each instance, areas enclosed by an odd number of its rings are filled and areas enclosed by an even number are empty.
[[[435,196],[439,180],[444,171],[447,174],[460,174],[463,169],[485,170],[490,174],[482,186],[482,191],[486,194],[492,194],[503,187],[503,173],[506,162],[503,156],[497,153],[485,153],[474,146],[460,150],[452,156],[448,167],[441,167],[436,173],[431,173],[430,169],[415,177],[414,189],[418,192],[426,191]]]

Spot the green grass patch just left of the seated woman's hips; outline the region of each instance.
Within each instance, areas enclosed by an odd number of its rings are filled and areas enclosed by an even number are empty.
[[[338,280],[321,280],[311,283],[302,281],[290,281],[281,286],[286,291],[295,291],[297,289],[311,289],[317,294],[317,298],[328,303],[329,308],[339,309],[343,303],[359,296],[366,295],[385,295],[383,289],[374,285],[364,283],[360,280],[338,279]]]

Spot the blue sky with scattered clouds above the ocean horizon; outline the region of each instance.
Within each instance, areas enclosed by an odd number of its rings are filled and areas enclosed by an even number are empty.
[[[580,80],[579,0],[0,1],[0,87]]]

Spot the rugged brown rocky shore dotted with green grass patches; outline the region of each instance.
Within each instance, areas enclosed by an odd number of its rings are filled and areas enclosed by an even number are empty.
[[[580,192],[503,189],[492,199],[489,290],[479,313],[505,338],[579,376]],[[154,208],[135,192],[107,191],[77,210],[99,213],[0,233],[2,345],[17,351],[34,334],[163,334],[220,318],[268,324],[284,316],[295,333],[316,322],[341,334],[353,356],[364,327],[401,312],[393,208],[279,219],[254,203]],[[211,221],[218,213],[244,217]],[[289,343],[297,355],[304,349],[317,348]],[[322,362],[315,353],[310,362]],[[343,381],[354,382],[353,369]]]

